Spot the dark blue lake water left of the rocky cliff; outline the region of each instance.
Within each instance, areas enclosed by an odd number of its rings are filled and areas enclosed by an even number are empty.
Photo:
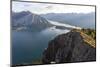
[[[40,32],[12,30],[12,64],[31,64],[42,57],[48,42],[69,30],[50,27]]]

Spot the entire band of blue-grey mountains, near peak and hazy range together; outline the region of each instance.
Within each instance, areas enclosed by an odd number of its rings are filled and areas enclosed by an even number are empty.
[[[34,14],[29,11],[12,12],[12,29],[38,31],[58,23],[69,24],[76,27],[95,28],[95,13],[48,13]],[[59,27],[62,28],[62,27]],[[64,28],[64,27],[63,27]]]

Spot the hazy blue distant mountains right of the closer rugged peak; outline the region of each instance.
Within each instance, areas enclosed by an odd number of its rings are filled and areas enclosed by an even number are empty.
[[[95,12],[91,13],[48,13],[42,17],[61,23],[75,25],[83,28],[95,28]]]

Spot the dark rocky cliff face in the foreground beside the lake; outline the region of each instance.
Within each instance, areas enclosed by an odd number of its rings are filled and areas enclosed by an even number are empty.
[[[79,32],[69,32],[51,40],[42,58],[44,64],[95,60],[96,49],[85,43]]]

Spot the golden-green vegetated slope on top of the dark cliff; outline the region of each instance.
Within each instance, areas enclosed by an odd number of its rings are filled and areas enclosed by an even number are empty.
[[[79,32],[84,42],[92,47],[96,47],[96,30],[94,29],[73,29],[72,32]]]

